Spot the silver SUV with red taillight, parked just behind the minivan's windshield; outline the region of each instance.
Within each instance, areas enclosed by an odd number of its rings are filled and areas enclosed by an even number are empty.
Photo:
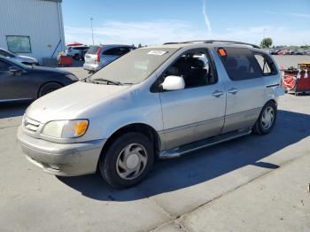
[[[85,55],[83,67],[90,73],[95,73],[113,60],[135,49],[136,47],[120,44],[92,46]]]

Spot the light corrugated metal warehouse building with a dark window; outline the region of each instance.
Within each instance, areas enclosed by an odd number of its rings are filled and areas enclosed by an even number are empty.
[[[62,0],[0,0],[0,48],[20,55],[56,57],[65,50]]]

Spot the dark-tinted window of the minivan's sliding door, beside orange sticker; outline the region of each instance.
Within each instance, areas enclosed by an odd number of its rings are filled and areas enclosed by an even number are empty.
[[[229,78],[232,81],[243,81],[262,76],[260,66],[252,50],[246,48],[224,48],[227,56],[221,57]]]

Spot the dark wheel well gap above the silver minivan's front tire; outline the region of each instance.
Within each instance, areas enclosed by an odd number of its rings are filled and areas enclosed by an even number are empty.
[[[130,124],[128,126],[125,126],[123,128],[118,129],[115,131],[105,142],[105,145],[101,151],[101,154],[106,151],[106,149],[112,144],[112,142],[119,137],[120,135],[124,135],[128,132],[138,132],[143,135],[145,135],[148,139],[150,139],[151,143],[154,146],[154,151],[155,154],[159,151],[160,149],[160,138],[158,133],[154,128],[151,128],[150,126],[143,124],[143,123],[135,123],[135,124]]]

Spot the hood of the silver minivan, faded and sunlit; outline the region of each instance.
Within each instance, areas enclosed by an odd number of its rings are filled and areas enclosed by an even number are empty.
[[[27,117],[43,123],[50,120],[73,120],[83,112],[120,94],[130,86],[93,84],[78,81],[37,99],[27,109]]]

